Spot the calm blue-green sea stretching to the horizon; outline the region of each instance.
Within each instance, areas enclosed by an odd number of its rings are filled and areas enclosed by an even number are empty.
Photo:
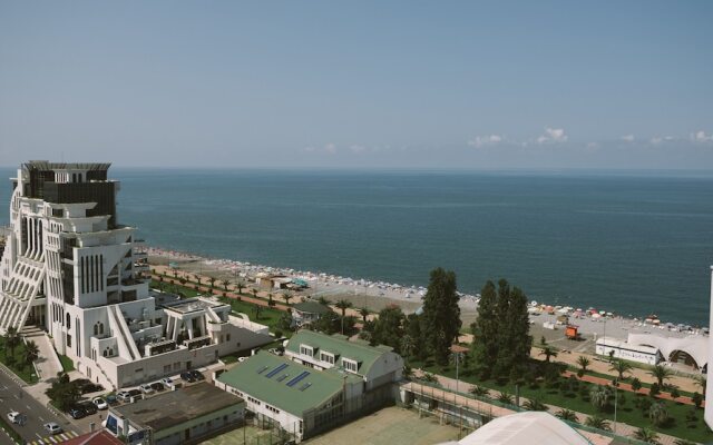
[[[0,177],[13,176],[9,168]],[[713,175],[113,168],[118,220],[149,245],[707,326]],[[0,224],[10,182],[0,181]]]

